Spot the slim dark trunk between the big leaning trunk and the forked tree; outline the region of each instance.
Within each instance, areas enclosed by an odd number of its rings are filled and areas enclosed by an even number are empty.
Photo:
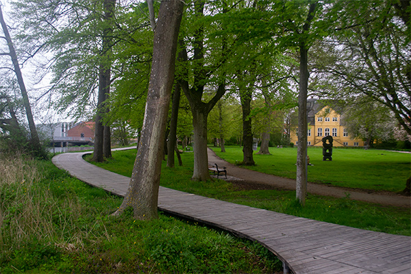
[[[173,106],[171,108],[170,134],[169,142],[167,142],[167,166],[174,167],[174,148],[177,147],[177,121],[178,108],[181,97],[181,90],[179,84],[175,84],[173,95]]]

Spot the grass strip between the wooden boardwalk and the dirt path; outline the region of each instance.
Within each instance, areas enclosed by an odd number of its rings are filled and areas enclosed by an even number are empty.
[[[114,158],[98,164],[104,169],[131,176],[136,150],[116,151]],[[223,180],[192,182],[193,154],[183,153],[184,166],[169,169],[163,162],[161,185],[214,199],[264,208],[309,219],[369,229],[390,234],[411,235],[410,210],[384,207],[373,203],[353,201],[349,197],[336,199],[309,195],[306,206],[295,202],[295,191],[246,190]]]

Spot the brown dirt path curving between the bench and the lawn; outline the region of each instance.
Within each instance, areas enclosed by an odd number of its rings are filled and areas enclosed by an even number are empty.
[[[295,179],[277,177],[275,175],[251,171],[249,169],[242,169],[234,164],[225,162],[225,160],[219,158],[216,153],[212,151],[212,149],[208,149],[208,162],[210,162],[210,164],[216,163],[219,166],[226,166],[227,175],[234,176],[230,179],[241,179],[247,182],[256,182],[258,184],[267,184],[277,188],[295,190]],[[351,199],[358,201],[379,203],[384,206],[399,206],[402,208],[411,207],[410,197],[393,192],[366,192],[365,190],[326,186],[324,184],[314,184],[310,182],[307,184],[307,191],[316,195],[332,196],[337,198],[347,197],[347,193],[349,193],[349,197]]]

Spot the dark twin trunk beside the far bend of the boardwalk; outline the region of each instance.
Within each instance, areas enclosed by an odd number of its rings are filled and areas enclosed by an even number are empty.
[[[103,162],[104,157],[111,158],[110,127],[107,121],[103,121],[105,114],[108,114],[108,95],[110,94],[111,81],[111,48],[112,29],[111,24],[114,17],[115,0],[104,0],[104,21],[107,23],[103,29],[103,39],[101,45],[101,56],[99,64],[99,99],[97,102],[97,114],[95,120],[95,146],[92,160]]]

